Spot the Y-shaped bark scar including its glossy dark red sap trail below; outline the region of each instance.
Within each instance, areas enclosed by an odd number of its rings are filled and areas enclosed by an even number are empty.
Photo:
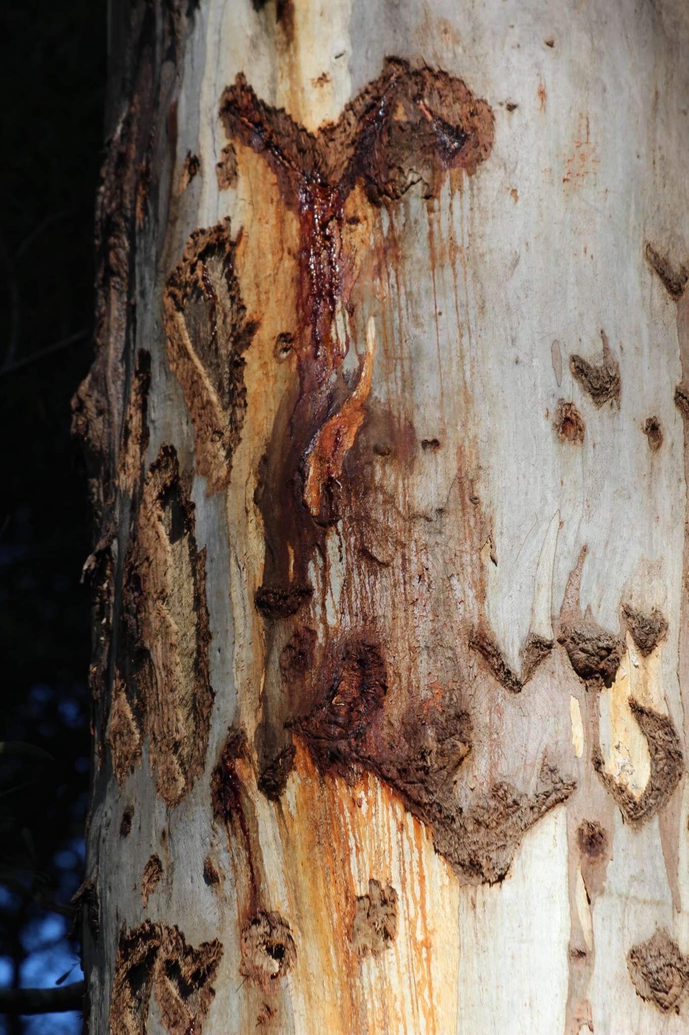
[[[427,197],[437,194],[448,170],[471,174],[488,158],[494,118],[461,80],[397,59],[385,62],[337,123],[316,134],[259,100],[241,75],[225,90],[220,116],[231,141],[263,156],[301,227],[295,332],[289,336],[299,396],[291,413],[276,420],[256,493],[265,564],[255,602],[267,619],[280,619],[309,598],[309,559],[316,544],[322,546],[322,527],[337,520],[335,486],[371,388],[372,318],[353,387],[342,373],[349,333],[342,341],[334,331],[338,315],[346,327],[357,247],[368,245],[357,238],[366,220],[348,215],[347,199],[358,189],[365,206],[365,198],[372,206],[389,204],[419,181]]]

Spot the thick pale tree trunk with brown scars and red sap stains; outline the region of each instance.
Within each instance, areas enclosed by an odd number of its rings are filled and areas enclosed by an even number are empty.
[[[127,7],[89,1031],[686,1031],[683,0]]]

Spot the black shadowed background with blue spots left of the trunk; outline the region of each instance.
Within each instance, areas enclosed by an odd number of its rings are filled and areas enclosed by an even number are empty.
[[[90,549],[69,401],[91,362],[105,4],[5,0],[0,14],[0,986],[82,977],[71,920],[87,810]],[[66,911],[68,912],[68,910]],[[77,1013],[0,1017],[76,1033]]]

